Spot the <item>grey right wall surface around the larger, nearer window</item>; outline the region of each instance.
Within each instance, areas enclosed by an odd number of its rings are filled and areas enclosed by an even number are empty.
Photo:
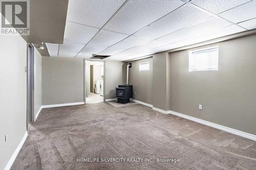
[[[218,71],[188,72],[189,50],[170,54],[170,110],[256,135],[256,35],[216,45]]]

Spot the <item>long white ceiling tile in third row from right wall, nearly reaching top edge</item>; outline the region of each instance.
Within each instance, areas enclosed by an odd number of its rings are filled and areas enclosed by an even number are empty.
[[[150,26],[136,33],[136,36],[156,39],[177,30],[183,29],[204,19],[211,17],[191,4],[187,4],[178,10],[166,15]]]

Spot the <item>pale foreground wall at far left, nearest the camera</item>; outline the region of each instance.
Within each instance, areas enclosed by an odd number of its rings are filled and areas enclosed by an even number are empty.
[[[0,169],[4,169],[27,131],[27,42],[19,35],[0,36],[0,53]]]

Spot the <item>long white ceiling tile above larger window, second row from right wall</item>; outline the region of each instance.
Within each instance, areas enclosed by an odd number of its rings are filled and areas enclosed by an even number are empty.
[[[185,29],[176,31],[172,34],[163,36],[157,40],[174,43],[190,37],[197,37],[197,36],[209,33],[211,31],[214,31],[216,29],[227,27],[230,25],[231,25],[230,22],[224,19],[221,19],[217,16],[214,16],[205,21],[197,23],[196,25],[193,25]]]

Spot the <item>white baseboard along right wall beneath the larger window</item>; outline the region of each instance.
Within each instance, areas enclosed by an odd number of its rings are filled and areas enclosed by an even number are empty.
[[[256,141],[256,135],[253,135],[253,134],[242,132],[242,131],[239,131],[239,130],[236,130],[236,129],[231,129],[231,128],[228,128],[228,127],[225,127],[225,126],[222,126],[222,125],[218,125],[218,124],[215,124],[215,123],[207,122],[205,120],[202,120],[202,119],[199,119],[199,118],[196,118],[196,117],[188,116],[188,115],[181,114],[181,113],[174,112],[174,111],[170,111],[170,110],[167,111],[167,113],[170,113],[170,114],[173,114],[173,115],[176,115],[176,116],[179,116],[179,117],[183,117],[183,118],[192,120],[194,122],[210,126],[212,128],[220,129],[222,131],[226,131],[226,132],[229,132],[229,133],[232,133],[232,134],[235,134],[235,135],[239,135],[239,136],[242,136],[242,137],[245,137],[245,138],[248,138],[248,139]]]

